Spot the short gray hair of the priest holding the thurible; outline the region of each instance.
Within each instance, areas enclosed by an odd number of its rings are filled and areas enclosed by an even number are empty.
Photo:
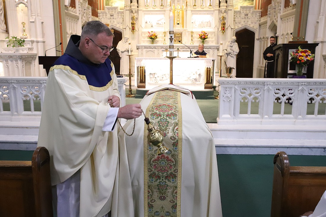
[[[86,24],[82,28],[81,38],[97,36],[98,34],[103,32],[106,33],[107,36],[114,37],[114,34],[111,32],[109,27],[107,27],[107,25],[105,25],[104,23],[96,20],[89,21],[86,22]]]

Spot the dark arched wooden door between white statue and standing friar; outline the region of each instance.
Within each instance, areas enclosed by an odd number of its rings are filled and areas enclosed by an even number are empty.
[[[237,78],[252,78],[254,69],[255,33],[243,29],[235,33],[239,46],[236,70]]]

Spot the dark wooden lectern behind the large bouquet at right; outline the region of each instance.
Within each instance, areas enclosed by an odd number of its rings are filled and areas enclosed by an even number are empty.
[[[275,51],[275,74],[274,78],[292,78],[295,74],[295,64],[290,63],[290,52],[297,50],[300,46],[301,49],[307,49],[311,53],[315,53],[316,47],[319,43],[289,43],[278,44],[273,49]],[[307,72],[304,73],[306,78],[314,77],[314,62],[308,64]]]

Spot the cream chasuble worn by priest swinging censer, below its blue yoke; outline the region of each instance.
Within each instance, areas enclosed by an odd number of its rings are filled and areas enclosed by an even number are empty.
[[[107,87],[91,87],[69,66],[55,65],[47,80],[38,146],[50,152],[52,185],[80,170],[81,217],[103,216],[110,210],[112,217],[133,216],[127,202],[132,195],[124,141],[118,142],[117,127],[102,131],[108,97],[120,97],[114,68],[111,77]]]

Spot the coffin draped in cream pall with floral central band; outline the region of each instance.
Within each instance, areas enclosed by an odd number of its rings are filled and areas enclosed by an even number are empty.
[[[133,120],[123,127],[128,134],[135,128],[126,136],[135,216],[221,217],[215,143],[195,97],[172,84],[154,89],[140,104],[164,132],[169,151],[157,155],[157,147],[147,142],[144,116],[135,127]]]

